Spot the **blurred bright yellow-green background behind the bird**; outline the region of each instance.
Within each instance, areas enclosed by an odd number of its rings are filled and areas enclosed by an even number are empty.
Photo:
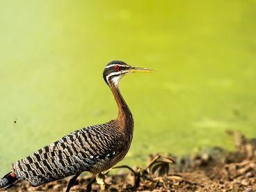
[[[117,115],[106,63],[149,67],[120,89],[134,115],[122,163],[232,150],[256,136],[256,1],[0,1],[0,173]],[[14,121],[17,120],[16,123]]]

